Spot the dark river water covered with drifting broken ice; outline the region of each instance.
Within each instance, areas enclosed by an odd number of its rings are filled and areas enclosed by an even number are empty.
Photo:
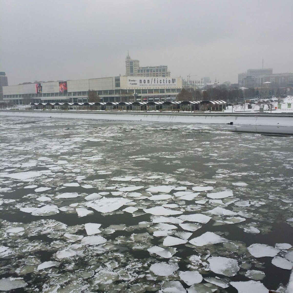
[[[292,137],[230,125],[0,123],[0,290],[234,293],[287,284]]]

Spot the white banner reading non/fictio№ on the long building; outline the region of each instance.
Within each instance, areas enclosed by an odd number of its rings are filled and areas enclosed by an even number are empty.
[[[151,77],[151,76],[128,76],[127,77],[128,87],[166,87],[166,86],[177,86],[176,77]]]

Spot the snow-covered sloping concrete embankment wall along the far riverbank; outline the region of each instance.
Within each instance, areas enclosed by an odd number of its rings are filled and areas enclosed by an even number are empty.
[[[154,112],[102,112],[102,111],[40,111],[0,110],[0,116],[53,117],[149,122],[207,123],[234,125],[293,126],[293,115],[280,114],[225,114],[225,113],[154,113]]]

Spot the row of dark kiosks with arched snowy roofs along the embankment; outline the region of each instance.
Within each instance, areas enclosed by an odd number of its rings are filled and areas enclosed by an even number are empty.
[[[33,110],[104,110],[104,111],[222,111],[224,100],[165,101],[165,102],[87,102],[87,103],[31,103]]]

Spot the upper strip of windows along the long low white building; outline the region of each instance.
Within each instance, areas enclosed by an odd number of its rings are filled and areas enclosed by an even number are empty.
[[[142,89],[135,90],[137,94],[148,94],[148,93],[180,93],[181,88],[163,88],[163,89]],[[122,95],[129,94],[132,95],[134,90],[106,90],[106,91],[96,91],[98,95]],[[59,93],[30,93],[30,94],[20,94],[20,95],[4,95],[4,98],[43,98],[43,97],[58,97],[63,96]],[[64,96],[88,96],[88,91],[80,92],[69,92],[64,94]]]

